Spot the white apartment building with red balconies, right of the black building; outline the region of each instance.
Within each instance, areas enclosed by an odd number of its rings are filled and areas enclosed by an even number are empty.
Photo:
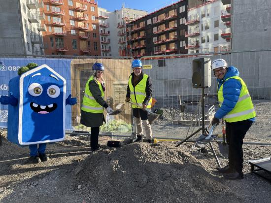
[[[231,5],[221,0],[189,0],[185,36],[188,53],[231,50]]]

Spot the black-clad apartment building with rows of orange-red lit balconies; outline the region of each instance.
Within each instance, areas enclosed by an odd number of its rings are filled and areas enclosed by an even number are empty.
[[[185,32],[188,0],[180,0],[127,24],[128,55],[187,53]]]

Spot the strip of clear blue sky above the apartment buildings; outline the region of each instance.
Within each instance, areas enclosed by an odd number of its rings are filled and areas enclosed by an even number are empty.
[[[97,1],[97,0],[95,0]],[[108,11],[120,10],[124,3],[126,8],[153,12],[178,0],[98,0],[98,6]]]

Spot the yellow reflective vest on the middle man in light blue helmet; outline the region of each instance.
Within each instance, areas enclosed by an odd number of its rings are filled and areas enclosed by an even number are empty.
[[[142,80],[140,80],[139,83],[135,85],[135,88],[134,88],[134,86],[132,85],[132,76],[130,75],[128,85],[130,89],[130,97],[131,97],[132,102],[142,105],[142,103],[144,102],[146,98],[147,80],[148,80],[148,75],[143,74]],[[152,102],[152,98],[146,104],[147,108],[151,108],[151,102]],[[132,104],[132,108],[142,108],[142,107]]]

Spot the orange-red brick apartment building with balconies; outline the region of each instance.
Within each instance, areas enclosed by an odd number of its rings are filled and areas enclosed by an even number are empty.
[[[46,55],[101,56],[98,6],[94,0],[44,0],[41,21]]]

